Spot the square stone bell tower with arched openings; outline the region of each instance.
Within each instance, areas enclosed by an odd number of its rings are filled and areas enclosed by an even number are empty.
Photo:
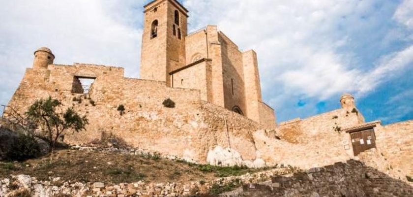
[[[170,86],[169,73],[185,66],[188,10],[177,0],[153,0],[144,8],[141,79]]]

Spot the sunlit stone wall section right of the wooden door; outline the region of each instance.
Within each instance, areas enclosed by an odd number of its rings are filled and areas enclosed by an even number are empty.
[[[378,125],[375,131],[376,145],[383,157],[413,177],[413,121]]]

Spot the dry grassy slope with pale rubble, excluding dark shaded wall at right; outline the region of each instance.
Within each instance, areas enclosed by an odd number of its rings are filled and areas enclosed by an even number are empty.
[[[52,157],[0,163],[0,197],[214,196],[295,171],[291,166],[192,164],[134,149],[72,147]]]

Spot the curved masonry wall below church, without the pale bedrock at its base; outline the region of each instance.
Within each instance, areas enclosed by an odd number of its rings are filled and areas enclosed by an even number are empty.
[[[262,129],[261,126],[201,101],[198,90],[123,78],[121,69],[102,67],[98,73],[82,65],[50,67],[51,70],[28,69],[9,105],[23,114],[36,99],[52,96],[65,107],[87,115],[90,123],[87,131],[66,134],[65,141],[70,144],[86,144],[100,139],[102,132],[106,132],[133,147],[196,162],[205,163],[208,151],[216,146],[236,149],[245,160],[256,159],[252,132]],[[85,68],[96,72],[97,78],[89,93],[96,106],[83,94],[70,91],[73,74]],[[176,102],[175,108],[162,105],[167,98]],[[120,104],[126,109],[123,115],[117,110]]]

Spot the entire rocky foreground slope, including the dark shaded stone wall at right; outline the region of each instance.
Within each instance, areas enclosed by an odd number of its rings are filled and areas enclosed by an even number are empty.
[[[77,147],[0,163],[0,197],[411,197],[413,187],[350,160],[307,171],[190,164],[157,154]]]

